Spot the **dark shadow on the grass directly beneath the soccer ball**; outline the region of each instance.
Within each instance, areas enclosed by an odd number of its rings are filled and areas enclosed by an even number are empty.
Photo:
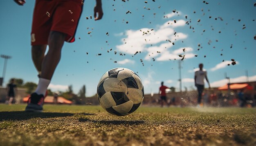
[[[79,118],[79,122],[92,122],[97,124],[105,124],[105,125],[139,125],[144,124],[145,122],[142,120],[134,120],[134,121],[127,121],[127,120],[93,120],[88,118]]]

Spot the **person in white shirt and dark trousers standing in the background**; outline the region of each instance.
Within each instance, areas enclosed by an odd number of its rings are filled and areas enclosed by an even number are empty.
[[[211,88],[209,80],[207,78],[207,71],[203,71],[203,64],[199,64],[199,71],[195,71],[195,86],[198,88],[198,105],[201,104],[202,93],[204,91],[204,78],[208,82],[209,88]]]

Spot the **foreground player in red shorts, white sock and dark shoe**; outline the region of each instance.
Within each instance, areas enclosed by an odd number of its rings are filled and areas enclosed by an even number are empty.
[[[21,6],[26,2],[25,0],[14,1]],[[61,58],[62,46],[65,41],[74,42],[82,9],[83,0],[36,0],[31,46],[33,62],[40,78],[25,111],[43,111],[45,92]],[[102,16],[101,0],[96,0],[94,20],[100,20]],[[45,55],[47,45],[49,45],[49,51]]]

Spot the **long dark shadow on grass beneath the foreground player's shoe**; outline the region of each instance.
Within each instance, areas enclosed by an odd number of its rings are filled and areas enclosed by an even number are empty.
[[[77,114],[77,113],[76,113]],[[82,115],[95,115],[94,113],[79,113]],[[0,112],[0,122],[5,120],[26,120],[35,117],[50,118],[50,117],[67,117],[74,113],[33,113],[25,111],[4,111]]]

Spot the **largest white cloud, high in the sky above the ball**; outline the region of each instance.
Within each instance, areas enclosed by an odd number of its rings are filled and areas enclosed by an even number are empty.
[[[168,15],[173,14],[170,13]],[[179,54],[185,55],[186,59],[193,58],[195,54],[192,53],[193,49],[191,47],[171,50],[172,47],[175,47],[173,42],[188,38],[187,34],[175,32],[174,30],[175,27],[182,27],[185,23],[185,20],[177,20],[176,23],[173,20],[169,20],[154,30],[150,28],[126,30],[124,35],[126,38],[121,39],[122,44],[116,46],[117,50],[131,55],[137,51],[145,51],[147,52],[147,55],[144,57],[145,60],[151,60],[152,58],[157,61],[179,59]],[[185,52],[182,50],[184,48],[186,48]]]

